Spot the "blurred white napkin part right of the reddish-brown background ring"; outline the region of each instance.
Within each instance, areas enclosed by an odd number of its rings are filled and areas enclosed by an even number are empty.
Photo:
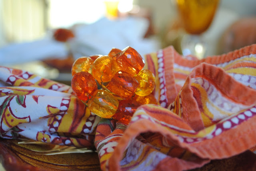
[[[112,48],[122,50],[127,46],[143,56],[160,48],[156,40],[144,38],[148,25],[148,20],[144,18],[102,18],[94,24],[75,27],[75,38],[70,41],[70,47],[74,58],[107,55]]]

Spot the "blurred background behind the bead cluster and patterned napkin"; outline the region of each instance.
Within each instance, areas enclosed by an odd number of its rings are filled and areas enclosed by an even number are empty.
[[[207,0],[190,2],[200,5],[188,6],[186,0],[0,0],[0,65],[70,84],[74,60],[106,55],[111,48],[131,46],[143,56],[174,46],[201,59],[256,43],[255,0],[217,0],[211,12]],[[190,8],[205,13],[188,13]],[[196,34],[186,29],[194,14],[191,26],[211,15]],[[71,30],[74,38],[56,40],[59,28]],[[199,42],[188,44],[185,36],[191,34]]]

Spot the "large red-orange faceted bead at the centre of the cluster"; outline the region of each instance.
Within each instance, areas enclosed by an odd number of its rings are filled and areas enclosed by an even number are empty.
[[[118,71],[108,83],[107,88],[112,93],[122,98],[130,99],[134,95],[138,85],[138,81],[133,78],[131,74],[124,71]]]

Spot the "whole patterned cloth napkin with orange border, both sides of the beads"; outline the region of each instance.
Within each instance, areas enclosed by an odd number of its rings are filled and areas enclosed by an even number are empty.
[[[256,45],[203,60],[145,55],[159,105],[128,125],[91,113],[69,86],[0,67],[0,136],[96,148],[101,169],[188,170],[256,151]]]

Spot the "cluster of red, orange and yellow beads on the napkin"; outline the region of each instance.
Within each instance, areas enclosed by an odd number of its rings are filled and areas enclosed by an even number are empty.
[[[152,95],[155,76],[144,65],[130,46],[112,48],[108,55],[80,57],[72,66],[71,87],[96,115],[128,124],[140,105],[157,104]]]

